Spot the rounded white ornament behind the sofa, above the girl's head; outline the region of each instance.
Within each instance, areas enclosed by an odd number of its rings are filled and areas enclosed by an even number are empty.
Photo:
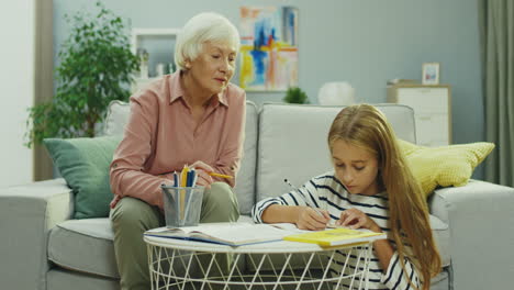
[[[323,105],[349,105],[355,103],[355,89],[346,81],[325,82],[317,92]]]

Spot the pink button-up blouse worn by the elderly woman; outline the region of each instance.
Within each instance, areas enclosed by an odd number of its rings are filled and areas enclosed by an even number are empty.
[[[214,179],[235,186],[243,155],[245,91],[230,83],[211,98],[195,125],[180,78],[179,71],[164,76],[131,97],[128,124],[110,168],[114,200],[133,197],[163,208],[160,185],[197,160],[234,176]]]

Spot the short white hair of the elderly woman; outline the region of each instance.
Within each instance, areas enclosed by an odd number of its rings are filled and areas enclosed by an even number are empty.
[[[186,70],[186,60],[194,60],[205,42],[227,43],[239,51],[237,29],[226,18],[214,12],[203,12],[191,18],[177,36],[175,64]]]

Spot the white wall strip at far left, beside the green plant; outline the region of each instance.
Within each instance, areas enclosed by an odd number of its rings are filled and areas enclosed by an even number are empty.
[[[33,179],[23,135],[34,99],[34,1],[0,1],[0,188]]]

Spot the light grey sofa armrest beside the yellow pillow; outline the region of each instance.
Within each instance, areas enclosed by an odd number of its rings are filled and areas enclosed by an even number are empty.
[[[514,188],[471,180],[436,190],[428,204],[449,225],[454,289],[511,289]]]

